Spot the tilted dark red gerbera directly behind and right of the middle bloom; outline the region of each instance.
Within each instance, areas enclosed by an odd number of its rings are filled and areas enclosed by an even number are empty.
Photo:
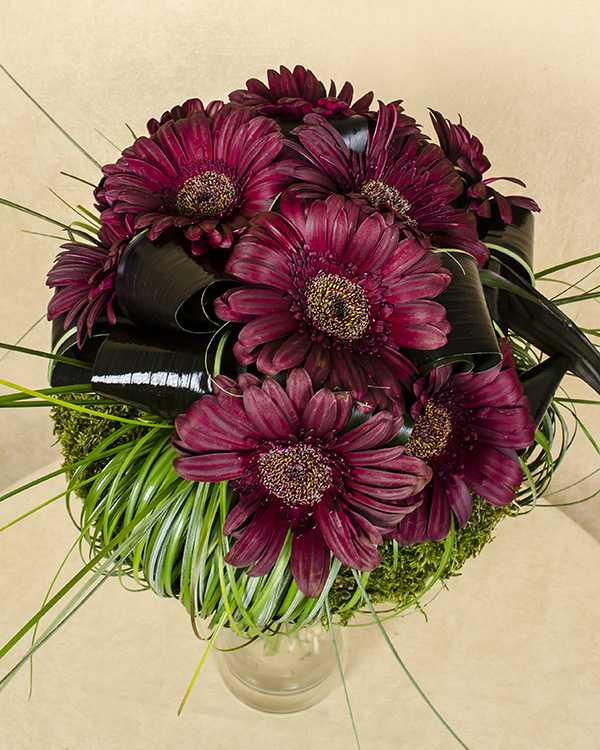
[[[463,184],[441,148],[418,136],[397,132],[398,109],[380,103],[366,151],[351,151],[334,127],[308,115],[292,133],[308,161],[296,170],[293,190],[303,197],[349,195],[368,211],[388,211],[406,236],[427,247],[456,248],[482,265],[489,257],[478,239],[475,218],[454,208]]]

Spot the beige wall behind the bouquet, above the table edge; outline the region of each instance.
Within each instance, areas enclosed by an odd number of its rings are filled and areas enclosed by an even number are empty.
[[[142,133],[149,117],[190,96],[224,98],[268,67],[302,63],[325,81],[350,80],[358,94],[401,97],[426,126],[427,107],[451,119],[460,113],[486,146],[490,174],[520,177],[541,205],[538,268],[599,249],[596,0],[0,0],[0,16],[2,63],[101,163],[118,156],[106,139],[129,144],[125,123]],[[91,191],[60,172],[96,182],[97,170],[1,73],[0,102],[0,195],[67,222],[74,215],[51,190],[91,206]],[[44,277],[59,245],[23,230],[53,233],[0,207],[4,341],[43,317]],[[598,309],[590,303],[574,317],[597,322]],[[24,344],[47,341],[42,322]],[[0,373],[40,387],[46,364],[11,354]],[[598,409],[585,414],[599,436]],[[57,456],[51,443],[45,409],[0,413],[0,485]],[[587,441],[577,445],[555,488],[600,466]],[[553,499],[577,500],[599,481]],[[569,512],[600,535],[599,509],[592,502]]]

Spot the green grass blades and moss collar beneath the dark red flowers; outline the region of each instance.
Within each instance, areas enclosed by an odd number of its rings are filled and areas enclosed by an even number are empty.
[[[74,394],[71,398],[90,396]],[[135,409],[119,404],[95,408],[134,420],[140,416]],[[87,482],[78,490],[84,500],[78,525],[87,556],[110,546],[157,494],[164,498],[152,522],[146,522],[145,534],[122,557],[119,576],[133,578],[138,586],[152,588],[160,596],[180,599],[191,614],[213,622],[226,616],[231,626],[249,633],[280,622],[310,622],[323,617],[326,596],[331,614],[342,624],[347,624],[361,607],[352,571],[337,562],[324,595],[317,601],[303,596],[290,573],[290,540],[267,576],[248,578],[243,570],[227,565],[224,557],[229,540],[223,538],[222,527],[231,493],[222,492],[219,485],[178,477],[165,430],[151,425],[121,425],[62,407],[54,408],[52,416],[67,464],[88,459],[92,451],[102,456],[109,445],[112,449],[122,446],[121,451],[70,472],[74,484]],[[505,509],[483,503],[452,537],[451,548],[445,542],[410,547],[386,542],[381,565],[364,574],[371,600],[376,604],[388,602],[394,609],[418,606],[426,586],[434,579],[457,575],[465,560],[489,541],[492,529],[505,514]]]

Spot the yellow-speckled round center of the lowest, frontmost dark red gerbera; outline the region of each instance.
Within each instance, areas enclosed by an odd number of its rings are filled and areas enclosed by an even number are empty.
[[[315,505],[333,483],[327,460],[310,445],[273,448],[258,465],[265,488],[287,505]]]

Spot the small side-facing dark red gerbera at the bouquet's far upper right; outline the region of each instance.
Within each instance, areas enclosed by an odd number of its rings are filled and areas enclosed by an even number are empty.
[[[490,162],[483,153],[481,141],[462,124],[462,118],[458,125],[446,120],[443,115],[435,110],[430,110],[431,121],[437,133],[442,151],[448,159],[462,171],[467,185],[467,195],[470,198],[468,210],[475,211],[479,216],[489,218],[492,214],[492,205],[498,207],[498,211],[505,224],[512,222],[511,206],[519,206],[529,211],[539,211],[538,204],[531,198],[522,195],[502,195],[490,187],[492,182],[505,180],[514,182],[521,187],[525,183],[516,177],[491,177],[483,179],[483,175],[490,168]]]

